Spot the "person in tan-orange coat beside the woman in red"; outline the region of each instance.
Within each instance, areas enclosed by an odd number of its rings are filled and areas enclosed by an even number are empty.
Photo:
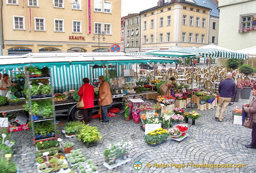
[[[99,76],[98,79],[100,80],[100,87],[98,90],[98,102],[101,105],[101,113],[103,116],[103,123],[109,122],[108,115],[107,115],[107,105],[113,102],[112,94],[110,90],[110,86],[105,81],[104,76]]]

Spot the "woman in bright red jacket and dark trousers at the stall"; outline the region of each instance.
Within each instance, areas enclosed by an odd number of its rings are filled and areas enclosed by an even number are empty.
[[[78,95],[80,96],[79,101],[81,101],[81,99],[84,100],[84,107],[81,109],[84,115],[84,121],[87,124],[92,120],[91,108],[94,107],[94,87],[89,84],[87,77],[84,77],[83,81],[84,84],[80,87]]]

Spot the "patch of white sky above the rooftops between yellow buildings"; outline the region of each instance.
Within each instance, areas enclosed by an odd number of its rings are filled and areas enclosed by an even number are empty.
[[[121,17],[152,8],[157,2],[158,0],[121,0]]]

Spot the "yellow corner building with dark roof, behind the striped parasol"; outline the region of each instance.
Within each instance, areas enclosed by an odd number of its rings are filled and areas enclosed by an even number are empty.
[[[141,11],[141,51],[209,44],[210,8],[171,1]]]

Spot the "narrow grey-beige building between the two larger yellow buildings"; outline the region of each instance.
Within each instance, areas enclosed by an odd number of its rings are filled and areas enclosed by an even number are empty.
[[[140,51],[140,15],[129,14],[125,17],[126,45],[124,52]]]

